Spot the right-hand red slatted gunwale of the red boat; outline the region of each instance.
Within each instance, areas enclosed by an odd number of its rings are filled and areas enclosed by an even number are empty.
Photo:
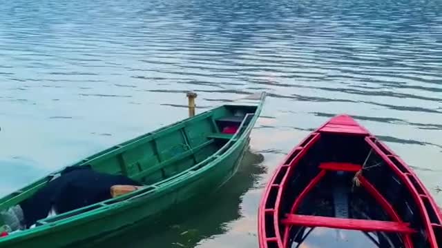
[[[390,158],[387,156],[387,154],[385,154],[379,147],[377,147],[376,144],[370,138],[375,138],[375,140],[378,143],[381,143],[381,141],[378,141],[376,139],[376,137],[374,137],[374,136],[365,137],[365,141],[368,143],[368,145],[370,147],[372,147],[374,149],[374,151],[379,156],[381,156],[381,158],[383,158],[383,160],[387,163],[387,165],[390,166],[390,168],[393,170],[393,172],[399,178],[401,178],[401,180],[403,181],[403,183],[405,183],[405,185],[407,185],[408,190],[410,190],[412,197],[414,198],[414,201],[417,203],[417,205],[419,207],[421,217],[423,217],[423,220],[425,222],[423,225],[425,226],[425,233],[426,233],[427,238],[430,242],[430,248],[438,248],[439,246],[437,245],[436,237],[434,236],[434,232],[433,232],[433,229],[431,226],[430,217],[428,216],[427,210],[425,209],[425,205],[423,204],[423,200],[419,196],[419,192],[417,192],[416,188],[414,188],[414,185],[410,181],[410,178],[407,177],[407,174],[410,174],[411,176],[413,176],[414,179],[421,185],[419,178],[417,178],[416,176],[414,176],[414,174],[411,173],[411,170],[409,169],[409,167],[405,163],[403,163],[403,161],[399,161],[399,162],[403,165],[403,167],[405,167],[407,172],[405,172],[405,173],[401,172],[401,169],[396,167],[396,165],[394,165],[394,163],[390,160]],[[383,147],[385,147],[385,145],[383,145]],[[396,155],[390,149],[388,149],[388,152],[390,152],[392,155]],[[428,194],[425,187],[422,187],[422,189],[425,191],[425,194]],[[430,202],[432,202],[432,200],[430,200]],[[432,207],[434,208],[434,203],[432,203]]]

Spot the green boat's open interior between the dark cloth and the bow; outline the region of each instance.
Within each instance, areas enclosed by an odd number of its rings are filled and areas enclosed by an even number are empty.
[[[237,131],[244,131],[255,111],[256,106],[224,105],[117,145],[83,163],[99,172],[123,174],[153,185],[195,165],[203,166]]]

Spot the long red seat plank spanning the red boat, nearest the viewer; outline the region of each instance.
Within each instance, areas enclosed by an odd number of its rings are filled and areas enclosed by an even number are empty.
[[[385,231],[412,234],[416,232],[407,223],[397,223],[381,220],[360,220],[349,218],[333,218],[325,216],[305,216],[298,214],[287,214],[282,220],[285,225],[300,225],[304,227],[330,227],[337,229],[349,229],[360,231]]]

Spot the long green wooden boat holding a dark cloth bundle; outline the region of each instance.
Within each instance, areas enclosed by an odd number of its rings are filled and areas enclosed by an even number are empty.
[[[257,99],[222,105],[75,163],[123,174],[144,187],[38,220],[32,229],[1,237],[0,247],[65,247],[93,240],[213,192],[238,169],[264,101],[262,93]],[[236,132],[224,132],[231,127],[236,127]],[[0,210],[29,198],[59,172],[61,169],[1,198]]]

